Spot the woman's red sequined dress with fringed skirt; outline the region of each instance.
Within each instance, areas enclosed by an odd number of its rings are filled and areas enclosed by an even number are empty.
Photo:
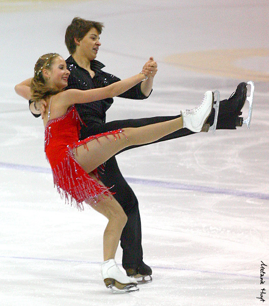
[[[80,122],[74,105],[63,116],[49,119],[45,126],[45,153],[58,193],[62,198],[65,197],[66,202],[71,205],[74,203],[78,209],[83,210],[83,201],[87,200],[87,203],[95,205],[98,202],[97,196],[113,193],[82,169],[74,157],[73,149],[102,136],[112,134],[115,137],[116,134],[123,133],[123,130],[106,132],[79,141]],[[97,175],[97,169],[93,173]]]

